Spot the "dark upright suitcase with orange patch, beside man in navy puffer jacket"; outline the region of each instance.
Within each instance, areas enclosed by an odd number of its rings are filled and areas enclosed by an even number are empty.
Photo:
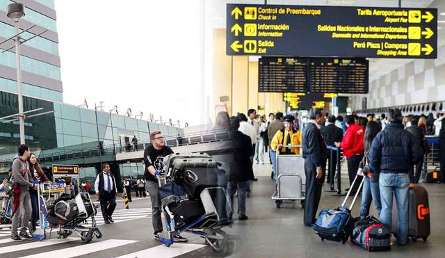
[[[410,184],[410,201],[408,204],[408,236],[413,241],[423,239],[426,241],[430,236],[430,205],[428,203],[428,192],[423,186]],[[391,232],[397,233],[397,205],[393,199]]]

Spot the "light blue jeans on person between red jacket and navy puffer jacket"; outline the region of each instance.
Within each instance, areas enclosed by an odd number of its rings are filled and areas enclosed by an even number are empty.
[[[382,211],[382,202],[380,201],[380,189],[378,187],[378,182],[371,182],[369,177],[365,177],[363,182],[362,204],[360,205],[360,216],[369,215],[369,207],[371,207],[371,202],[373,202],[378,216],[380,216],[380,211]]]

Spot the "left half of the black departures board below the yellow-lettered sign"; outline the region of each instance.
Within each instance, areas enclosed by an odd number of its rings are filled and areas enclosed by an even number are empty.
[[[307,58],[259,59],[259,92],[306,92]]]

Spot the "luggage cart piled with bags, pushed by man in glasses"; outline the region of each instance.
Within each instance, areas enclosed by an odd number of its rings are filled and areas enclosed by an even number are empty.
[[[165,175],[158,177],[164,233],[160,241],[170,247],[182,232],[200,235],[213,252],[232,254],[236,236],[223,231],[232,223],[229,195],[218,186],[217,162],[208,154],[170,154],[163,160]],[[172,192],[172,194],[165,194]]]

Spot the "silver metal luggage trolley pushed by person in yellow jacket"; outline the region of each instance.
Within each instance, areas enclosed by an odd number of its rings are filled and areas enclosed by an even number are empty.
[[[301,145],[284,145],[283,147],[299,147]],[[272,195],[277,208],[285,200],[300,201],[301,207],[305,207],[305,159],[302,155],[280,155],[277,151],[276,166],[277,169],[277,188]]]

